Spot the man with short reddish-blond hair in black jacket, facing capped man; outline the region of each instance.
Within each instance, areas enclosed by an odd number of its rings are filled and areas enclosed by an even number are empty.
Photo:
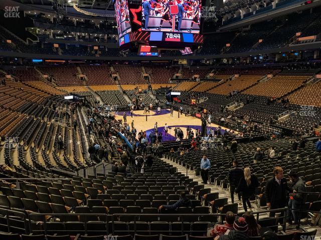
[[[276,166],[273,170],[274,176],[267,180],[265,186],[266,205],[269,209],[283,208],[286,206],[287,186],[286,179],[283,178],[283,169]],[[275,212],[270,212],[270,217],[274,217]],[[281,212],[283,216],[283,212]],[[281,221],[280,221],[281,222]]]

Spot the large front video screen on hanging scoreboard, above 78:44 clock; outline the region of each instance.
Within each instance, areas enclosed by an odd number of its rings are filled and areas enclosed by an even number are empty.
[[[200,33],[200,22],[200,0],[142,1],[142,30]]]

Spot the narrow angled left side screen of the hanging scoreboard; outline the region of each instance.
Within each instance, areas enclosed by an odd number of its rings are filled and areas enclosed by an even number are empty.
[[[115,12],[119,37],[131,31],[127,0],[115,0]]]

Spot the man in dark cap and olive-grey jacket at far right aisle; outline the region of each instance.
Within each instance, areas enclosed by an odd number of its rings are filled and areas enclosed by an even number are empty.
[[[297,172],[290,171],[289,177],[292,182],[291,190],[293,193],[290,193],[290,199],[288,202],[288,207],[292,209],[301,209],[302,203],[305,202],[305,196],[302,193],[295,193],[300,191],[305,191],[305,186],[303,180],[298,177]],[[292,219],[294,220],[294,224],[298,223],[299,220],[299,211],[289,210],[287,214],[287,220],[289,223],[292,223]]]

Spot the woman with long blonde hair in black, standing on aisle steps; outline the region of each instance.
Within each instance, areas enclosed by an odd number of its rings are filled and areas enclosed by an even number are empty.
[[[250,198],[254,195],[255,187],[259,185],[257,177],[251,174],[249,167],[244,168],[244,176],[241,178],[235,192],[241,192],[243,208],[247,211],[247,205],[251,208]]]

